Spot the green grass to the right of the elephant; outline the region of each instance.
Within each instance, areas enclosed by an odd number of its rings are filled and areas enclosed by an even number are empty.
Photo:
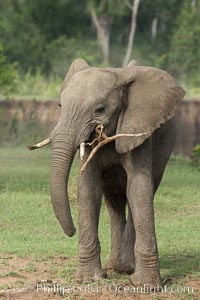
[[[155,200],[156,231],[162,274],[197,274],[200,270],[200,172],[173,158]]]

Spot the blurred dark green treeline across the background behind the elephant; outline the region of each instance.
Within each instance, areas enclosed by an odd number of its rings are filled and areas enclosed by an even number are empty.
[[[1,0],[0,85],[26,72],[64,76],[76,57],[121,66],[132,0]],[[131,59],[200,83],[200,1],[140,0]]]

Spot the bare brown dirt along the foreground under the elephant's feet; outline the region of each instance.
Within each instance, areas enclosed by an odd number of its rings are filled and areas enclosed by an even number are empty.
[[[16,256],[0,257],[0,298],[3,300],[62,300],[62,299],[200,299],[200,278],[188,276],[177,278],[167,284],[162,293],[148,293],[144,289],[136,290],[127,280],[121,285],[107,280],[102,283],[77,284],[68,282],[55,272],[54,266],[63,267],[76,258],[63,257],[48,261],[33,261],[30,258]],[[110,276],[109,276],[110,277]],[[176,281],[176,284],[173,281]],[[164,283],[165,284],[165,283]],[[188,298],[190,297],[190,298]]]

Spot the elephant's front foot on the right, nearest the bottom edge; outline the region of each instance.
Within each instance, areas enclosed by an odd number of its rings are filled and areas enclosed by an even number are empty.
[[[136,272],[131,275],[130,282],[135,287],[145,287],[147,292],[162,291],[162,282],[160,276],[155,273]]]

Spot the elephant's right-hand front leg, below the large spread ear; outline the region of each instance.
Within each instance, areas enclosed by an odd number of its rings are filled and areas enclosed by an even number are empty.
[[[161,285],[157,243],[154,224],[153,180],[149,141],[134,150],[126,161],[127,196],[135,225],[135,273],[131,275],[134,286]]]

